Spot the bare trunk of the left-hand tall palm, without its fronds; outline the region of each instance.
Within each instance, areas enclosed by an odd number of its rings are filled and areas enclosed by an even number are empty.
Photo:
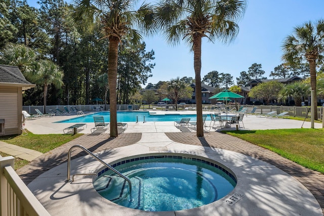
[[[117,60],[118,60],[118,44],[117,37],[109,37],[108,51],[108,83],[109,83],[109,101],[110,101],[110,137],[118,137],[117,131]]]

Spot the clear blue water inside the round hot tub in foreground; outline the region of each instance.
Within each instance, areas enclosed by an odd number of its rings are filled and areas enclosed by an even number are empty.
[[[224,168],[191,159],[144,159],[114,168],[131,180],[134,201],[129,202],[128,183],[111,170],[95,180],[95,189],[116,204],[145,211],[199,207],[224,197],[236,185]]]

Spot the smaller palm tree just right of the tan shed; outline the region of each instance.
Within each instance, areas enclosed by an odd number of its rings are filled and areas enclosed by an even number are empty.
[[[39,62],[40,69],[37,75],[33,76],[32,81],[37,85],[44,87],[44,112],[46,111],[47,91],[50,84],[53,84],[57,89],[63,85],[63,71],[54,62],[50,60],[41,60]]]

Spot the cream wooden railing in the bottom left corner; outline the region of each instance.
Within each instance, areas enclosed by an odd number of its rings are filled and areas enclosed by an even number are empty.
[[[0,215],[50,215],[19,178],[13,167],[13,156],[0,156]]]

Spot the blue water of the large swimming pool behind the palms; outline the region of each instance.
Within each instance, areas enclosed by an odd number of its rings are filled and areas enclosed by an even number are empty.
[[[64,121],[58,121],[60,123],[75,123],[75,122],[94,122],[93,116],[100,115],[104,116],[105,122],[110,121],[110,112],[98,112],[95,114],[86,115],[85,117],[77,117],[71,118]],[[197,115],[196,114],[163,114],[163,115],[156,115],[150,114],[147,111],[136,111],[136,112],[117,112],[117,121],[118,122],[143,122],[145,116],[145,121],[180,121],[181,118],[190,118],[190,121],[196,121]],[[210,121],[210,115],[207,115],[206,121]]]

